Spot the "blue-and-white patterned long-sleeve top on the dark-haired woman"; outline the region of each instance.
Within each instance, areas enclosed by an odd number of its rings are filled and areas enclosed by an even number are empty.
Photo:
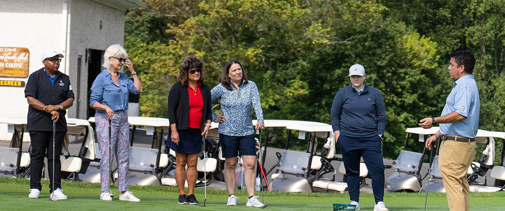
[[[260,92],[255,82],[240,85],[237,89],[231,83],[233,90],[218,84],[211,90],[212,102],[221,99],[221,112],[225,121],[219,123],[218,132],[229,136],[246,136],[254,134],[252,126],[251,105],[254,107],[258,122],[263,122]],[[212,112],[212,119],[216,121],[218,115]]]

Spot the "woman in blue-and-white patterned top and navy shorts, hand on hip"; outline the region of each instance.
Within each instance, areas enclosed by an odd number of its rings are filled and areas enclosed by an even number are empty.
[[[261,207],[255,188],[256,141],[252,126],[251,105],[254,107],[258,123],[257,130],[263,130],[263,110],[260,92],[255,82],[247,80],[242,65],[235,60],[226,63],[219,82],[211,90],[212,102],[221,100],[221,116],[213,112],[213,120],[219,123],[219,142],[226,160],[225,182],[230,194],[227,205],[237,205],[235,196],[235,168],[237,156],[242,157],[245,166],[245,187],[247,188],[247,206]]]

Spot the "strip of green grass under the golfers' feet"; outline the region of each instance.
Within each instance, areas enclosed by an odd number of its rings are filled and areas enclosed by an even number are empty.
[[[99,200],[100,186],[96,183],[63,181],[64,193],[69,197],[66,201],[51,201],[48,199],[47,180],[42,181],[40,198],[28,198],[29,180],[22,178],[0,178],[0,210],[256,210],[246,207],[247,193],[237,190],[240,197],[238,206],[226,206],[228,193],[222,190],[207,190],[207,207],[196,205],[181,205],[177,203],[177,188],[168,186],[130,186],[140,202]],[[113,193],[117,186],[112,187]],[[115,191],[114,191],[115,190]],[[257,195],[261,192],[257,192]],[[204,190],[196,189],[195,195],[201,204],[204,202]],[[471,210],[501,210],[505,205],[505,192],[472,193]],[[386,193],[384,202],[390,210],[424,210],[425,194],[422,193]],[[346,193],[284,193],[266,192],[265,201],[269,204],[264,210],[326,210],[333,209],[333,203],[347,203]],[[362,194],[360,198],[362,210],[373,210],[372,194]],[[447,199],[444,193],[428,195],[427,210],[447,210]]]

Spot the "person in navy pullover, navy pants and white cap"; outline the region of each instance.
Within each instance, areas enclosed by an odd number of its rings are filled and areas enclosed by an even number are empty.
[[[335,141],[342,152],[350,203],[360,210],[360,160],[372,176],[374,211],[387,211],[384,198],[382,138],[386,128],[384,99],[379,90],[365,84],[365,68],[349,68],[351,85],[338,90],[330,119]]]

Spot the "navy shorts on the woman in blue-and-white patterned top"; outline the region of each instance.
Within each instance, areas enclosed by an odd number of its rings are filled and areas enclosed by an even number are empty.
[[[246,136],[229,136],[219,134],[219,142],[223,150],[223,157],[236,157],[238,155],[256,156],[256,140],[254,133]]]

